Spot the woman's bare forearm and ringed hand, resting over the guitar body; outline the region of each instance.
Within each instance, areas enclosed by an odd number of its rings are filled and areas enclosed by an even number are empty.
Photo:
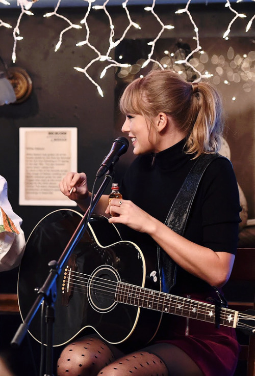
[[[214,252],[185,239],[129,200],[122,200],[121,205],[119,200],[112,200],[107,213],[113,215],[110,223],[122,223],[150,235],[178,265],[196,277],[218,287],[228,280],[235,259],[233,254]]]

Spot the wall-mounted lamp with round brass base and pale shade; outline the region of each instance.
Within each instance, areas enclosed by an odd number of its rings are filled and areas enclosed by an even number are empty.
[[[24,102],[32,92],[30,76],[22,68],[9,68],[1,56],[0,61],[5,67],[0,71],[0,105]]]

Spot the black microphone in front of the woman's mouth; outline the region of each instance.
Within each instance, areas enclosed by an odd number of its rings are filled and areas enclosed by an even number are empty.
[[[104,173],[113,166],[119,159],[119,157],[124,154],[129,148],[129,141],[125,137],[118,137],[113,141],[110,153],[105,157],[101,163],[96,177],[100,178]]]

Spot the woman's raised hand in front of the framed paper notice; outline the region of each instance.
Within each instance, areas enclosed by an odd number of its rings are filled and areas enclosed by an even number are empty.
[[[61,192],[70,200],[79,201],[89,195],[87,177],[84,172],[68,172],[59,183]]]

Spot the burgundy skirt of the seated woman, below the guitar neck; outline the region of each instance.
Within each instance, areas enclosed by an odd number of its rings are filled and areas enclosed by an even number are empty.
[[[192,296],[192,299],[196,299]],[[200,299],[197,299],[200,300]],[[171,343],[182,349],[206,376],[232,376],[235,372],[240,345],[233,328],[164,315],[155,342]]]

